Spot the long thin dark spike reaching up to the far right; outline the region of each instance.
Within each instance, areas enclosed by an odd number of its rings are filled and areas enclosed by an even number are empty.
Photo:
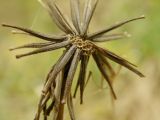
[[[113,25],[113,26],[110,26],[110,27],[104,29],[104,30],[100,30],[100,31],[98,31],[98,32],[89,34],[89,35],[88,35],[88,39],[95,38],[95,37],[97,37],[97,36],[100,36],[100,35],[103,35],[103,34],[105,34],[105,33],[107,33],[107,32],[110,32],[110,31],[112,31],[112,30],[114,30],[114,29],[116,29],[116,28],[119,28],[119,27],[121,27],[122,25],[125,25],[125,24],[130,23],[130,22],[135,21],[135,20],[144,19],[144,18],[145,18],[144,16],[141,16],[141,17],[137,17],[137,18],[133,18],[133,19],[129,19],[129,20],[126,20],[126,21],[117,23],[117,24],[115,24],[115,25]]]

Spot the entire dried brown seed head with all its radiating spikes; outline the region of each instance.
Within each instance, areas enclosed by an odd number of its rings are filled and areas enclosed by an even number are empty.
[[[40,119],[41,113],[43,113],[44,120],[47,120],[51,112],[54,113],[53,120],[62,120],[65,103],[68,106],[70,118],[75,120],[72,101],[73,96],[71,93],[72,82],[77,66],[80,63],[80,72],[74,97],[76,96],[78,88],[80,88],[80,103],[82,104],[84,88],[86,82],[88,82],[86,74],[90,56],[93,57],[97,68],[108,83],[115,99],[116,94],[111,80],[111,76],[114,76],[115,72],[108,60],[114,61],[131,70],[140,77],[144,77],[144,75],[136,69],[134,64],[96,45],[97,42],[107,42],[127,37],[125,33],[109,34],[109,32],[132,21],[144,19],[144,16],[116,23],[113,26],[109,26],[95,33],[88,33],[88,27],[98,0],[86,0],[83,11],[80,10],[80,0],[70,0],[71,21],[64,16],[55,0],[41,0],[40,2],[48,10],[57,27],[63,31],[63,35],[47,35],[23,27],[2,24],[4,27],[13,28],[27,35],[44,40],[42,43],[30,43],[10,49],[34,48],[33,51],[17,55],[16,58],[64,48],[62,56],[53,65],[46,78],[35,120]],[[80,16],[81,14],[82,16]]]

